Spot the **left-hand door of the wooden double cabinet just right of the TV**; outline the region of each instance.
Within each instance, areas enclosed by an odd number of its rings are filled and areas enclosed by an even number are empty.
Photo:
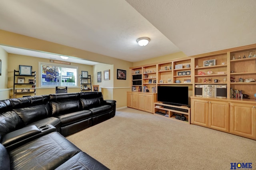
[[[191,99],[191,123],[208,127],[208,108],[207,100]]]

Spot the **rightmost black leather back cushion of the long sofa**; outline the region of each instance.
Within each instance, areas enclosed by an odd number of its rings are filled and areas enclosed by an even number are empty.
[[[83,109],[100,106],[104,101],[101,92],[80,92],[80,100]]]

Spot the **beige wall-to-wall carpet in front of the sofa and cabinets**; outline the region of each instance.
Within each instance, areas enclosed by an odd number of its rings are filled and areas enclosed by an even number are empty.
[[[67,139],[111,170],[256,169],[256,140],[130,108]]]

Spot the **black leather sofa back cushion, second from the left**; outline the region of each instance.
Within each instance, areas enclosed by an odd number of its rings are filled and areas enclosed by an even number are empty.
[[[51,115],[50,103],[32,105],[24,108],[14,109],[25,125],[44,119]]]

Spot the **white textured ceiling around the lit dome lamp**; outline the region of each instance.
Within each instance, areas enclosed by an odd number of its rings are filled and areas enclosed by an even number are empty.
[[[256,0],[1,0],[0,29],[140,61],[256,43]],[[149,37],[140,47],[136,39]]]

